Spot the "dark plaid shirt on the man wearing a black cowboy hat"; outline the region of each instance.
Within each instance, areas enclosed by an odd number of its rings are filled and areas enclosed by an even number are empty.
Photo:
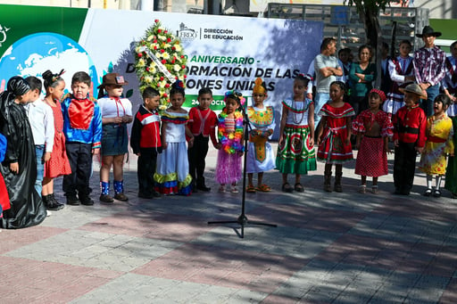
[[[421,47],[414,52],[414,76],[418,84],[429,83],[432,86],[445,78],[445,51],[436,45],[432,48]]]

